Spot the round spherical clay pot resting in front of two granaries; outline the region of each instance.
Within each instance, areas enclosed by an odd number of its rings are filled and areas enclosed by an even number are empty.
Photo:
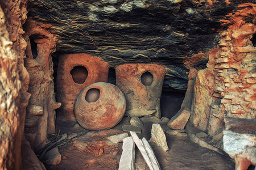
[[[110,83],[94,83],[77,97],[75,115],[79,124],[88,130],[110,129],[122,120],[126,100],[122,91]]]

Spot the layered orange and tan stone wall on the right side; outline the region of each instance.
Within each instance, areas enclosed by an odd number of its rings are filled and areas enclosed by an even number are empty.
[[[197,73],[190,122],[221,141],[224,116],[255,118],[255,4],[239,6],[230,20],[221,20],[218,47],[209,54],[207,69]],[[221,146],[220,146],[221,147]]]

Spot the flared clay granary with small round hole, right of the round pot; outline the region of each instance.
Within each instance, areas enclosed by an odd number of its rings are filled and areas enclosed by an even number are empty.
[[[160,118],[160,96],[167,68],[154,63],[127,63],[115,71],[117,86],[126,98],[127,116],[155,114]]]

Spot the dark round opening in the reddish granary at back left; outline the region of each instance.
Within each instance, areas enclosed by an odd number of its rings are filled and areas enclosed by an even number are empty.
[[[75,83],[82,84],[85,82],[88,76],[88,71],[84,66],[76,66],[73,67],[73,69],[70,71],[70,74],[72,75]]]

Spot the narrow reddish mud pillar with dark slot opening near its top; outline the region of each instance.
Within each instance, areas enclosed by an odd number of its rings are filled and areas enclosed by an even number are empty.
[[[30,74],[28,92],[31,97],[27,107],[24,133],[32,149],[37,152],[49,141],[48,134],[55,132],[56,103],[53,90],[53,62],[56,37],[47,31],[49,25],[27,19],[24,24],[27,49],[25,66]]]

